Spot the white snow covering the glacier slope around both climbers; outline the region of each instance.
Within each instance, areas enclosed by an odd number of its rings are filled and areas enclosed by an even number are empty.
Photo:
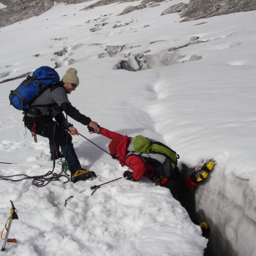
[[[69,99],[102,127],[162,141],[181,156],[179,165],[194,167],[214,157],[214,172],[196,190],[197,210],[205,211],[206,219],[211,215],[213,227],[219,224],[216,248],[227,252],[231,244],[237,255],[256,255],[256,12],[179,23],[178,14],[160,15],[179,1],[122,16],[138,1],[82,10],[94,2],[55,4],[38,17],[1,28],[0,82],[42,65],[57,63],[61,77],[75,67],[80,86]],[[201,42],[170,51],[192,37]],[[125,47],[99,59],[108,45]],[[54,55],[59,50],[63,56]],[[125,54],[147,50],[154,55],[153,69],[113,69]],[[9,105],[10,90],[22,80],[1,83],[0,160],[17,165],[1,164],[0,175],[52,170],[48,140],[38,136],[34,143],[22,113]],[[107,138],[69,121],[107,150]],[[168,189],[146,178],[121,179],[91,195],[91,186],[127,169],[81,136],[73,142],[81,164],[97,173],[94,181],[53,181],[42,188],[31,180],[0,181],[0,224],[9,217],[10,200],[19,217],[10,232],[18,243],[7,244],[7,255],[203,255],[207,239]]]

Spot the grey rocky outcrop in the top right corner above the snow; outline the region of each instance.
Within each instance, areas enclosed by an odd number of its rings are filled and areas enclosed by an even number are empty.
[[[190,0],[182,21],[256,10],[256,0]]]

